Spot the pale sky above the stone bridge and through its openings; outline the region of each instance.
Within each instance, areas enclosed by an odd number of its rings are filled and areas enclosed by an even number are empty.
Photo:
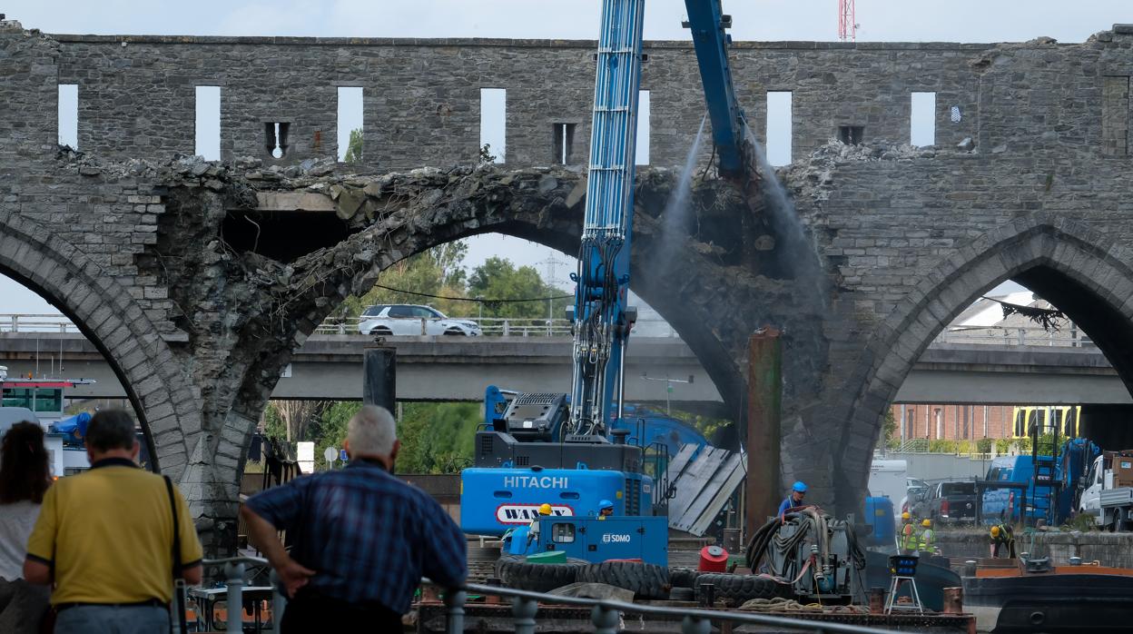
[[[724,0],[736,40],[836,40],[836,7],[837,0]],[[593,39],[599,8],[597,0],[9,0],[0,11],[48,33]],[[683,17],[683,0],[648,0],[646,39],[687,39]],[[858,0],[857,22],[860,41],[1081,42],[1114,23],[1133,23],[1133,2]],[[772,127],[774,142],[784,128]],[[472,240],[469,264],[500,253],[525,264],[550,255],[523,240],[485,236]],[[560,265],[556,277],[566,270]],[[57,311],[0,278],[0,313],[11,312]]]

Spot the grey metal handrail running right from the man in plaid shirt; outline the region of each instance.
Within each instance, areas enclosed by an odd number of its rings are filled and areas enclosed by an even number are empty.
[[[421,583],[435,585],[428,580],[421,580]],[[448,634],[460,634],[465,631],[465,601],[469,592],[475,594],[510,597],[513,599],[512,615],[514,615],[516,619],[516,634],[535,633],[535,615],[538,612],[539,602],[593,608],[593,611],[590,612],[590,622],[594,624],[594,631],[598,634],[614,634],[617,632],[620,612],[680,617],[682,634],[708,634],[708,632],[712,631],[713,620],[749,625],[773,625],[787,629],[824,633],[842,632],[846,634],[888,634],[889,632],[888,629],[878,629],[876,627],[861,625],[847,625],[843,623],[817,623],[813,620],[791,617],[740,611],[667,608],[663,606],[627,603],[625,601],[615,601],[612,599],[562,597],[557,594],[533,592],[529,590],[516,590],[511,587],[469,583],[457,592],[445,593],[445,631]]]

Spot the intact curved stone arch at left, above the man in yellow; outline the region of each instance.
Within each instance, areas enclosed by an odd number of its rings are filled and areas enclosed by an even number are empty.
[[[0,221],[0,271],[51,302],[94,344],[140,419],[155,470],[185,482],[186,431],[199,429],[199,413],[180,364],[126,288],[75,245],[18,213]]]

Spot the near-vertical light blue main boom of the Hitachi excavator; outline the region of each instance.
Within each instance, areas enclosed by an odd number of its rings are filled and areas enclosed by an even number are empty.
[[[604,0],[574,299],[571,433],[602,432],[620,395],[645,0]]]

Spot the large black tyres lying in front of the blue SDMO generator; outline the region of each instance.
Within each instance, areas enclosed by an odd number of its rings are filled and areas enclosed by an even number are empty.
[[[641,561],[566,559],[565,564],[531,564],[522,557],[505,555],[495,565],[496,577],[508,587],[550,592],[581,583],[604,583],[633,592],[637,599],[667,599],[668,568]]]

